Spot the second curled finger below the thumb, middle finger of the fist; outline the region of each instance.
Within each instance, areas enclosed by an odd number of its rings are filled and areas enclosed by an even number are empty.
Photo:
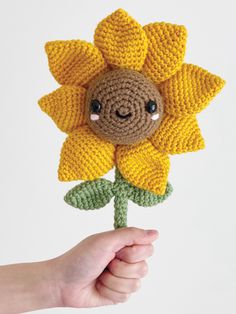
[[[148,272],[146,261],[138,263],[126,263],[114,258],[107,267],[109,271],[116,277],[122,278],[143,278]]]

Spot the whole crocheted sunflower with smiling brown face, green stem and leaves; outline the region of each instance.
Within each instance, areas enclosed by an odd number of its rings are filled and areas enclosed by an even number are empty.
[[[196,114],[224,81],[183,63],[186,38],[184,26],[142,27],[119,9],[98,24],[94,45],[46,43],[62,86],[39,105],[68,134],[59,180],[85,180],[67,193],[68,204],[97,209],[115,196],[114,226],[124,227],[128,199],[152,206],[171,193],[168,155],[204,148]],[[114,166],[114,182],[101,178]]]

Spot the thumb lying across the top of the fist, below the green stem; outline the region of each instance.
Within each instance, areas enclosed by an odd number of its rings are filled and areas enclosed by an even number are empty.
[[[106,249],[116,253],[125,246],[150,244],[157,239],[158,232],[128,227],[100,233],[100,237]]]

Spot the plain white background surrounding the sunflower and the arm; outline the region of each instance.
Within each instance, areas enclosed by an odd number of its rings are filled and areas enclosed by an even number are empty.
[[[227,81],[199,115],[207,148],[171,158],[171,198],[150,208],[129,204],[129,225],[160,232],[142,288],[121,305],[38,313],[236,313],[234,3],[0,1],[1,264],[57,256],[113,224],[112,203],[96,212],[82,212],[63,201],[75,185],[57,180],[65,134],[37,105],[41,96],[58,87],[48,71],[46,41],[92,41],[97,23],[121,7],[142,25],[184,24],[189,34],[186,61]],[[113,172],[107,177],[113,179]]]

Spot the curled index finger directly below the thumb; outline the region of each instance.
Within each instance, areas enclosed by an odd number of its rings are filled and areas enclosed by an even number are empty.
[[[116,258],[126,263],[138,263],[152,256],[153,245],[133,245],[127,246],[116,253]]]

